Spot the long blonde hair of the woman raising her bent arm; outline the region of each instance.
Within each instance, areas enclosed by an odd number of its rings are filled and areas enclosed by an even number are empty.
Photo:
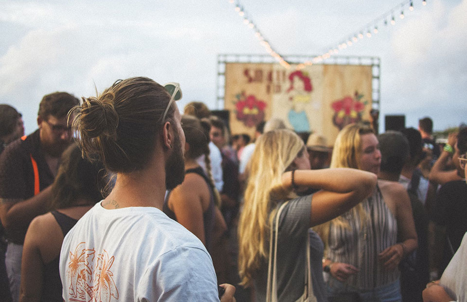
[[[256,142],[238,225],[238,269],[243,285],[251,284],[261,260],[269,257],[266,239],[278,201],[296,196],[283,188],[282,174],[300,152],[306,152],[304,142],[287,129],[264,133]]]

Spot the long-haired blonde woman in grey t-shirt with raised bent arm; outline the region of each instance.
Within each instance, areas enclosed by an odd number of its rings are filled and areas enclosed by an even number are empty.
[[[376,176],[356,169],[310,170],[302,139],[293,131],[269,131],[258,140],[251,158],[251,173],[240,216],[239,273],[242,284],[255,287],[255,300],[265,301],[267,291],[270,222],[278,206],[278,301],[295,301],[304,290],[306,236],[310,236],[313,292],[326,301],[322,275],[323,243],[309,228],[348,211],[367,197]],[[299,197],[307,188],[323,189]]]

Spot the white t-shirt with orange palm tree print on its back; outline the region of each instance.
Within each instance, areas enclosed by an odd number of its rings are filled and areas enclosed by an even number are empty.
[[[152,207],[97,203],[63,240],[60,278],[65,301],[219,301],[201,241]]]

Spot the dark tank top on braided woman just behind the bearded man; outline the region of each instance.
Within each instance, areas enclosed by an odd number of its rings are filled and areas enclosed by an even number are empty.
[[[204,171],[201,167],[197,167],[194,169],[188,169],[185,171],[185,174],[188,174],[188,173],[196,173],[199,176],[201,176],[204,179],[204,181],[206,181],[206,184],[208,185],[208,188],[209,188],[209,195],[210,195],[209,206],[206,209],[206,211],[204,211],[203,213],[203,222],[204,222],[204,240],[206,242],[205,247],[209,252],[211,252],[212,237],[213,237],[213,232],[214,232],[214,216],[215,216],[214,207],[216,206],[216,202],[214,199],[215,198],[214,188],[210,185],[209,179],[204,174]],[[162,211],[167,216],[177,221],[177,217],[175,216],[175,213],[169,209],[168,200],[169,200],[170,193],[171,192],[169,192],[165,196]]]

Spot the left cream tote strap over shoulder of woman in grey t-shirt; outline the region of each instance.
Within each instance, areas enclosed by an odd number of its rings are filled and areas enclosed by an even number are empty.
[[[279,233],[279,218],[281,212],[288,202],[284,202],[277,210],[274,221],[271,221],[270,235],[269,235],[269,260],[268,260],[268,284],[266,286],[266,302],[277,302],[277,288],[276,288],[276,261],[277,261],[277,234]],[[272,233],[275,233],[274,241]],[[273,243],[274,242],[274,243]],[[274,244],[274,248],[272,245]]]

